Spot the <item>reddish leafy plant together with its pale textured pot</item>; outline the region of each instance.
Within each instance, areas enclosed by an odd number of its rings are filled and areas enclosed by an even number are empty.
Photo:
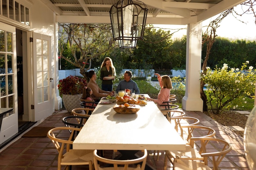
[[[79,108],[80,98],[83,94],[83,88],[87,86],[85,78],[79,78],[77,76],[68,76],[60,80],[58,89],[60,96],[62,97],[65,109],[71,112],[74,108]]]

